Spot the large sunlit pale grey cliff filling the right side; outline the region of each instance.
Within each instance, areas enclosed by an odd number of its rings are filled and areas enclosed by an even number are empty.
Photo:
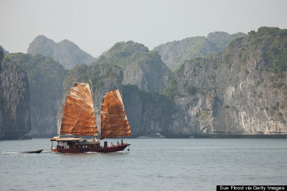
[[[178,111],[165,133],[287,134],[286,38],[286,30],[263,27],[220,53],[186,61],[174,73]]]

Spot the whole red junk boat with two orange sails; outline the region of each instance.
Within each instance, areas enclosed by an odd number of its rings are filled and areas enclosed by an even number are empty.
[[[92,86],[93,87],[93,86]],[[54,137],[51,151],[60,153],[84,152],[117,152],[130,144],[123,143],[122,137],[131,135],[124,111],[122,98],[118,89],[108,91],[103,98],[101,107],[101,137],[121,137],[121,143],[104,146],[98,140],[98,128],[94,112],[93,98],[88,83],[77,83],[71,87],[64,103],[60,135],[76,135],[77,137]],[[78,136],[93,136],[92,141],[83,140]],[[53,147],[53,141],[57,145]],[[129,149],[128,149],[129,150]]]

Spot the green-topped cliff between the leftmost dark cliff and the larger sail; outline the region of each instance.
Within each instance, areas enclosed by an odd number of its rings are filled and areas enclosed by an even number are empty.
[[[51,136],[57,132],[56,116],[63,93],[63,66],[48,56],[11,53],[6,58],[27,71],[30,87],[31,136]]]

